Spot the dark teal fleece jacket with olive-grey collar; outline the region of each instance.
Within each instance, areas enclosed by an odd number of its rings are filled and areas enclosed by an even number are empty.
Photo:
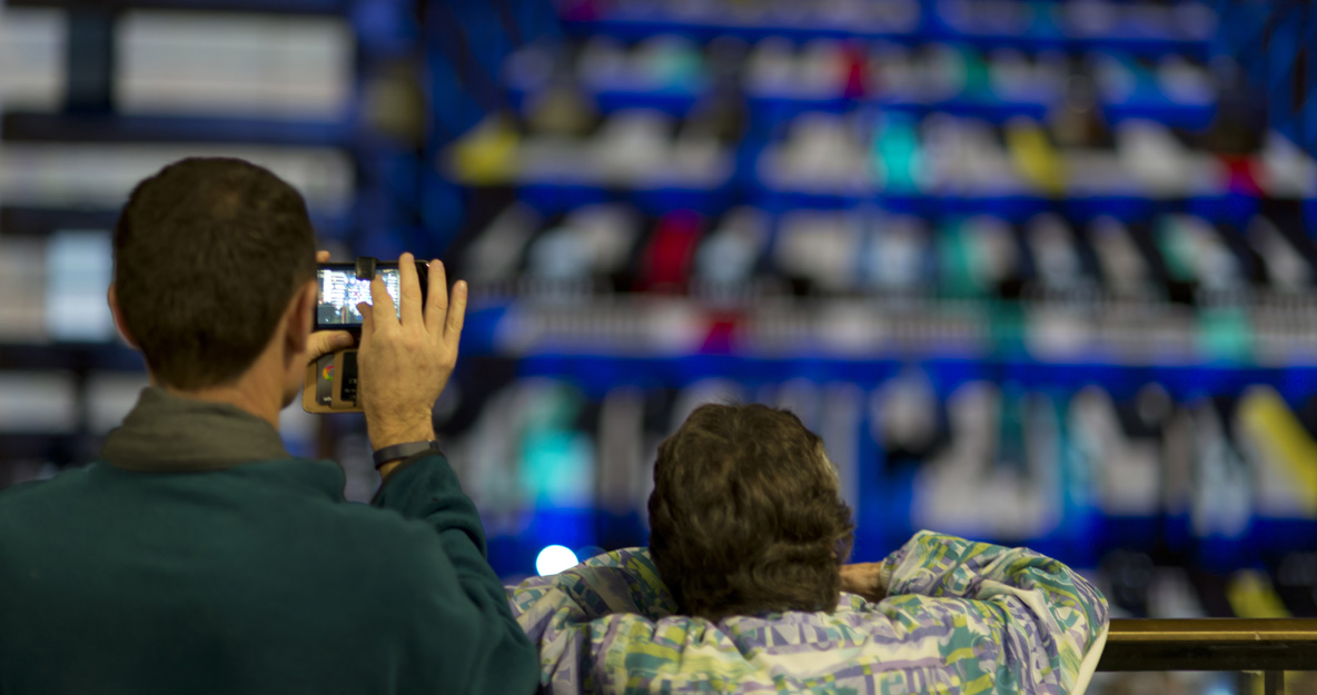
[[[0,695],[533,691],[443,454],[349,504],[263,420],[149,388],[101,458],[0,492]]]

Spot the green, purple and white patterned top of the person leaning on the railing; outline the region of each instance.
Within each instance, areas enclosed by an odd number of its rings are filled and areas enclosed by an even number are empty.
[[[719,623],[673,615],[647,549],[507,591],[554,694],[1062,695],[1084,687],[1105,640],[1102,595],[1027,549],[921,532],[882,578],[881,603],[842,594],[832,613]]]

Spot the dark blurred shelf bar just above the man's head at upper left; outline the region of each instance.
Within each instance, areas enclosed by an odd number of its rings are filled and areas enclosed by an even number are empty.
[[[0,140],[349,147],[352,129],[335,121],[8,112],[0,117]]]

